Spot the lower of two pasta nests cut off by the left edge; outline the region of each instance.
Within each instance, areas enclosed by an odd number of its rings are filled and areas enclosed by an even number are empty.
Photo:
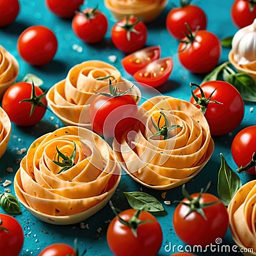
[[[0,157],[6,152],[12,132],[10,118],[3,108],[0,108]]]

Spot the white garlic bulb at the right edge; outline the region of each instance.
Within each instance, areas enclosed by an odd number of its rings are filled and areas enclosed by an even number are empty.
[[[232,40],[232,51],[238,65],[256,61],[256,19],[237,31]]]

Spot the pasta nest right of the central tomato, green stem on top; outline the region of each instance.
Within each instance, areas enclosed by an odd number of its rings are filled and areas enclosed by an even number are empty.
[[[193,104],[173,97],[157,96],[141,104],[133,131],[113,141],[116,158],[132,179],[154,189],[170,189],[188,182],[209,161],[214,143],[209,125]],[[179,125],[170,138],[150,138],[157,131],[152,121],[164,111],[170,125]],[[163,118],[159,123],[163,124]],[[176,132],[175,132],[176,131]]]

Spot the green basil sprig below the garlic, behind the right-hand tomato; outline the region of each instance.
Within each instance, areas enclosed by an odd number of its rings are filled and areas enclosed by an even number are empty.
[[[236,72],[230,67],[229,61],[214,68],[204,77],[202,83],[216,80],[223,80],[234,85],[244,100],[256,102],[256,83],[254,79],[244,72]]]

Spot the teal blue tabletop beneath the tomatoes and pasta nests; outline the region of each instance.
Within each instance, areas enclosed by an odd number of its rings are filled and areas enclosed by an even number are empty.
[[[147,45],[161,45],[162,56],[171,56],[173,58],[173,71],[168,81],[164,83],[159,89],[160,93],[164,95],[171,95],[179,99],[189,100],[190,99],[190,88],[189,83],[201,83],[203,76],[191,74],[185,68],[183,68],[177,57],[177,47],[179,42],[169,35],[165,27],[165,19],[169,10],[172,8],[172,3],[179,4],[179,1],[169,1],[166,8],[164,9],[161,16],[157,18],[155,22],[147,24],[148,28],[148,40]],[[207,13],[208,25],[207,29],[212,33],[215,33],[218,38],[224,38],[225,36],[234,35],[237,28],[232,23],[230,18],[230,7],[233,3],[231,0],[214,0],[214,1],[203,1],[195,0],[194,4],[200,6],[205,13]],[[15,58],[19,61],[20,73],[17,81],[20,81],[26,74],[32,73],[36,74],[43,79],[44,84],[42,88],[44,90],[49,89],[53,84],[64,79],[67,76],[68,70],[76,65],[86,60],[102,60],[107,61],[109,55],[115,55],[117,57],[115,63],[113,64],[120,72],[122,76],[126,79],[132,80],[122,67],[121,60],[124,58],[125,54],[118,51],[111,42],[110,31],[111,27],[115,23],[115,19],[105,8],[103,0],[93,0],[86,1],[82,7],[93,7],[99,4],[99,10],[104,12],[109,20],[109,29],[106,36],[102,42],[95,45],[89,45],[81,42],[74,35],[71,28],[71,19],[60,19],[54,14],[49,12],[45,6],[45,1],[43,0],[20,0],[20,13],[13,22],[12,25],[0,29],[0,44],[3,45],[8,51],[10,51]],[[28,63],[25,63],[19,56],[17,52],[17,38],[20,33],[33,25],[44,25],[52,29],[58,38],[58,51],[54,60],[44,67],[33,67]],[[83,47],[83,52],[77,52],[72,49],[72,45],[77,44]],[[227,61],[229,49],[222,49],[220,63]],[[143,97],[150,97],[152,95],[147,95],[147,92],[142,91]],[[256,108],[255,103],[245,102],[245,115],[243,122],[230,134],[225,134],[223,136],[214,137],[214,153],[206,164],[202,172],[200,172],[195,179],[190,180],[186,187],[190,193],[194,193],[206,186],[206,184],[211,180],[210,193],[217,195],[217,183],[218,183],[218,171],[220,168],[220,153],[223,153],[227,159],[228,164],[236,169],[236,164],[232,159],[230,152],[230,145],[235,134],[247,127],[249,125],[255,125],[256,120]],[[254,108],[254,111],[250,111],[250,108]],[[54,116],[51,111],[47,110],[46,115],[42,121],[31,127],[17,127],[12,125],[12,134],[10,143],[8,144],[8,149],[4,156],[0,159],[0,177],[3,179],[9,179],[13,181],[15,172],[19,168],[17,160],[23,157],[17,154],[17,150],[20,148],[29,148],[29,145],[47,132],[54,131],[56,127],[62,127],[61,121]],[[7,172],[8,167],[13,168],[13,172]],[[243,184],[248,180],[254,179],[253,176],[247,173],[242,173],[239,175]],[[1,187],[3,191],[3,187]],[[8,188],[14,193],[13,184]],[[140,184],[134,182],[128,175],[122,175],[120,185],[118,190],[113,196],[113,202],[121,208],[127,209],[129,205],[122,194],[123,191],[144,191],[150,195],[156,196],[161,202],[161,193],[163,191],[154,191],[152,189],[143,188]],[[170,245],[181,245],[184,243],[175,235],[172,225],[173,211],[177,204],[174,204],[174,200],[181,200],[181,188],[175,188],[167,191],[166,200],[172,202],[171,205],[164,205],[164,209],[167,212],[165,216],[158,216],[159,223],[163,228],[163,244],[161,250],[157,255],[165,256],[171,255]],[[0,212],[3,212],[0,209]],[[106,230],[108,228],[108,221],[114,217],[113,212],[106,205],[101,211],[93,215],[91,218],[84,220],[84,224],[88,228],[81,228],[80,223],[76,225],[66,225],[66,226],[56,226],[48,223],[44,223],[36,219],[31,215],[24,207],[21,207],[21,214],[16,215],[15,218],[20,222],[24,230],[24,246],[20,255],[38,255],[40,250],[51,243],[68,243],[73,244],[74,238],[78,238],[78,246],[80,250],[84,248],[87,249],[86,255],[97,255],[97,256],[108,256],[112,255],[108,248],[106,241]],[[205,234],[207,236],[207,234]],[[232,237],[230,235],[230,230],[228,230],[226,236],[223,239],[222,244],[234,245]],[[177,247],[175,248],[177,252]],[[225,252],[204,252],[196,253],[196,255],[241,255],[240,253],[225,253]],[[0,252],[1,255],[1,252]],[[138,256],[138,255],[134,255]]]

